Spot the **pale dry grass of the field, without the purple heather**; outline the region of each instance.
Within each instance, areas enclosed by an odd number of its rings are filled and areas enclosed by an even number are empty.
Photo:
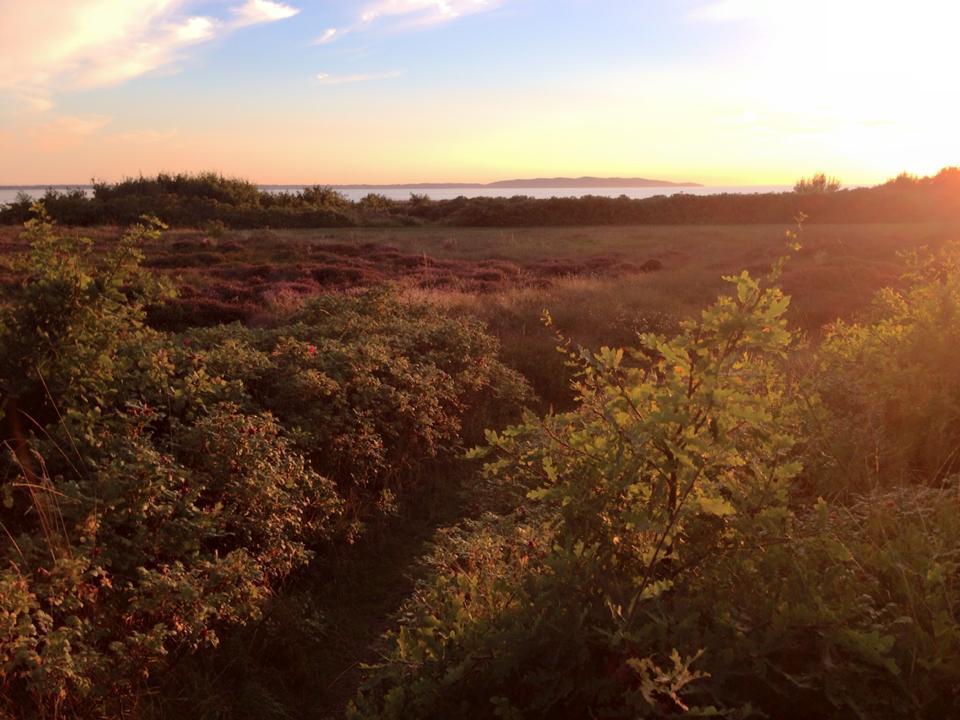
[[[578,260],[605,258],[608,268],[618,268],[657,261],[655,272],[605,273],[584,267],[549,282],[503,283],[482,292],[404,283],[411,299],[483,319],[500,338],[504,360],[531,381],[544,407],[561,407],[571,401],[570,375],[563,356],[553,352],[556,337],[543,325],[544,310],[574,343],[629,345],[637,332],[669,331],[680,318],[699,312],[721,289],[724,275],[743,269],[764,272],[787,251],[788,230],[773,225],[421,228],[285,231],[271,237],[291,243],[373,243],[411,255],[475,263],[536,266],[555,260],[576,268]],[[241,242],[254,243],[263,236],[242,237]],[[799,233],[802,248],[783,277],[792,296],[790,320],[816,339],[825,323],[856,315],[876,290],[897,282],[903,268],[899,253],[937,248],[957,238],[960,226],[955,223],[808,225]]]

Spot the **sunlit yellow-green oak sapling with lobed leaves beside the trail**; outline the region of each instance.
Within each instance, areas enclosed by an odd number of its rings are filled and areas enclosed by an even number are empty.
[[[746,273],[731,281],[735,294],[676,338],[579,357],[577,410],[490,435],[487,474],[525,489],[529,508],[445,561],[361,715],[687,708],[701,647],[656,637],[648,616],[715,555],[782,533],[800,469],[788,300]]]

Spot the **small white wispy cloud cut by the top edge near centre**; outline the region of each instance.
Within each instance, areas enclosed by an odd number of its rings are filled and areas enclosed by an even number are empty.
[[[313,44],[324,45],[374,27],[410,29],[442,25],[467,15],[496,10],[505,2],[507,0],[376,0],[362,7],[353,24],[329,28]]]

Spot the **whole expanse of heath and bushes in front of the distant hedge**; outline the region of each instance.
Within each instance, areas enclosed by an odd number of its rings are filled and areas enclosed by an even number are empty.
[[[101,200],[163,209],[137,182]],[[0,717],[960,713],[954,222],[31,212],[0,234]]]

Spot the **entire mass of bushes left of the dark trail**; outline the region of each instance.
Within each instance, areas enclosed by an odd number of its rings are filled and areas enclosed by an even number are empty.
[[[386,295],[271,331],[151,329],[169,290],[138,246],[157,232],[145,220],[97,256],[40,211],[13,263],[0,717],[135,713],[160,672],[342,541],[345,508],[369,514],[380,494],[355,489],[449,459],[470,396],[523,393],[482,328]]]

